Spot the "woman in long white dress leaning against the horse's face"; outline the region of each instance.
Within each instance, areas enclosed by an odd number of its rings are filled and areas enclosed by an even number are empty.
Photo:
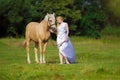
[[[69,27],[66,22],[63,22],[63,18],[58,16],[56,18],[58,27],[57,27],[57,45],[59,49],[60,64],[63,64],[63,58],[66,61],[66,64],[75,62],[75,52],[71,44],[71,41],[68,37]],[[51,31],[53,32],[53,31]]]

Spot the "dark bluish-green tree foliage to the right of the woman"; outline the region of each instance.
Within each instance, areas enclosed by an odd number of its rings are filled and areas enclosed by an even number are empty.
[[[100,31],[105,27],[105,12],[102,10],[99,0],[86,1],[80,3],[82,19],[80,20],[81,33],[79,35],[87,35],[99,38]]]

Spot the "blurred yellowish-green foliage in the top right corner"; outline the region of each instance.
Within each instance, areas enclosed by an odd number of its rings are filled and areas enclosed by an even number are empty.
[[[107,14],[107,23],[120,26],[120,0],[101,0],[101,3]]]

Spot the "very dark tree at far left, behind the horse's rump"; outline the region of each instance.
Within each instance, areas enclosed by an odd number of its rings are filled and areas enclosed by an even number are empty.
[[[25,12],[25,1],[23,0],[1,0],[0,2],[0,30],[4,36],[18,36],[24,32],[23,21]],[[1,35],[3,36],[3,35]]]

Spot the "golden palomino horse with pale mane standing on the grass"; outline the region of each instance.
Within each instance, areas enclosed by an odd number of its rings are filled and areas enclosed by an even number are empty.
[[[45,61],[45,52],[46,52],[46,46],[48,43],[48,39],[50,37],[49,29],[56,30],[55,26],[55,15],[53,14],[47,14],[40,23],[37,22],[30,22],[26,26],[26,51],[27,51],[27,61],[30,64],[30,51],[29,51],[29,45],[30,41],[34,41],[35,47],[35,61],[36,63],[39,63],[38,60],[38,46],[40,47],[40,63],[46,63]],[[43,44],[43,46],[42,46]]]

